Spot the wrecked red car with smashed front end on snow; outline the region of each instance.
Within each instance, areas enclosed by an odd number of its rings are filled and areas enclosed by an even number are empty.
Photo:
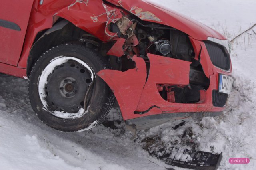
[[[234,85],[228,40],[145,0],[2,0],[0,72],[29,79],[47,125],[87,130],[114,99],[130,130],[218,116]]]

